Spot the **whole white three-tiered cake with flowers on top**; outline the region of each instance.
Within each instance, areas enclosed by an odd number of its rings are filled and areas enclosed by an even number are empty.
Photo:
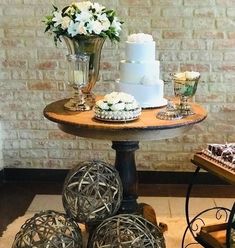
[[[118,90],[133,95],[143,108],[166,105],[159,67],[152,36],[143,33],[130,35],[125,44],[125,60],[120,62]]]

